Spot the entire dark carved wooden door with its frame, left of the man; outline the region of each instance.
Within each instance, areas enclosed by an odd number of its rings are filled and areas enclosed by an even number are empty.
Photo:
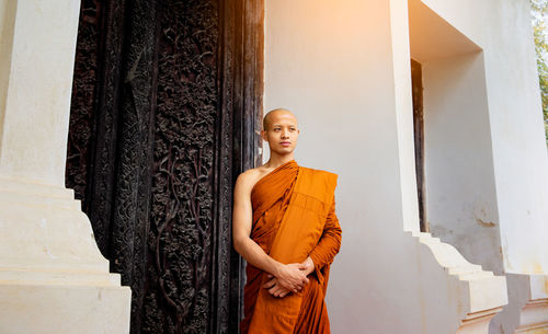
[[[232,185],[262,115],[263,2],[83,0],[67,186],[133,290],[132,333],[237,333]]]

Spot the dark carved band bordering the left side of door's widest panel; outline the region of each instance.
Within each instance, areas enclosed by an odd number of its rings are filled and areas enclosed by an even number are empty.
[[[110,256],[112,269],[122,273],[122,283],[132,287],[132,332],[141,333],[147,325],[142,308],[150,270],[147,234],[151,221],[158,4],[153,0],[127,3]],[[162,313],[161,309],[156,311]]]

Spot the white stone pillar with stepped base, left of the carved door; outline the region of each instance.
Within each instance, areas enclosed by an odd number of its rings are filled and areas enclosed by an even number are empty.
[[[65,188],[79,0],[0,0],[0,333],[127,333],[130,290]]]

